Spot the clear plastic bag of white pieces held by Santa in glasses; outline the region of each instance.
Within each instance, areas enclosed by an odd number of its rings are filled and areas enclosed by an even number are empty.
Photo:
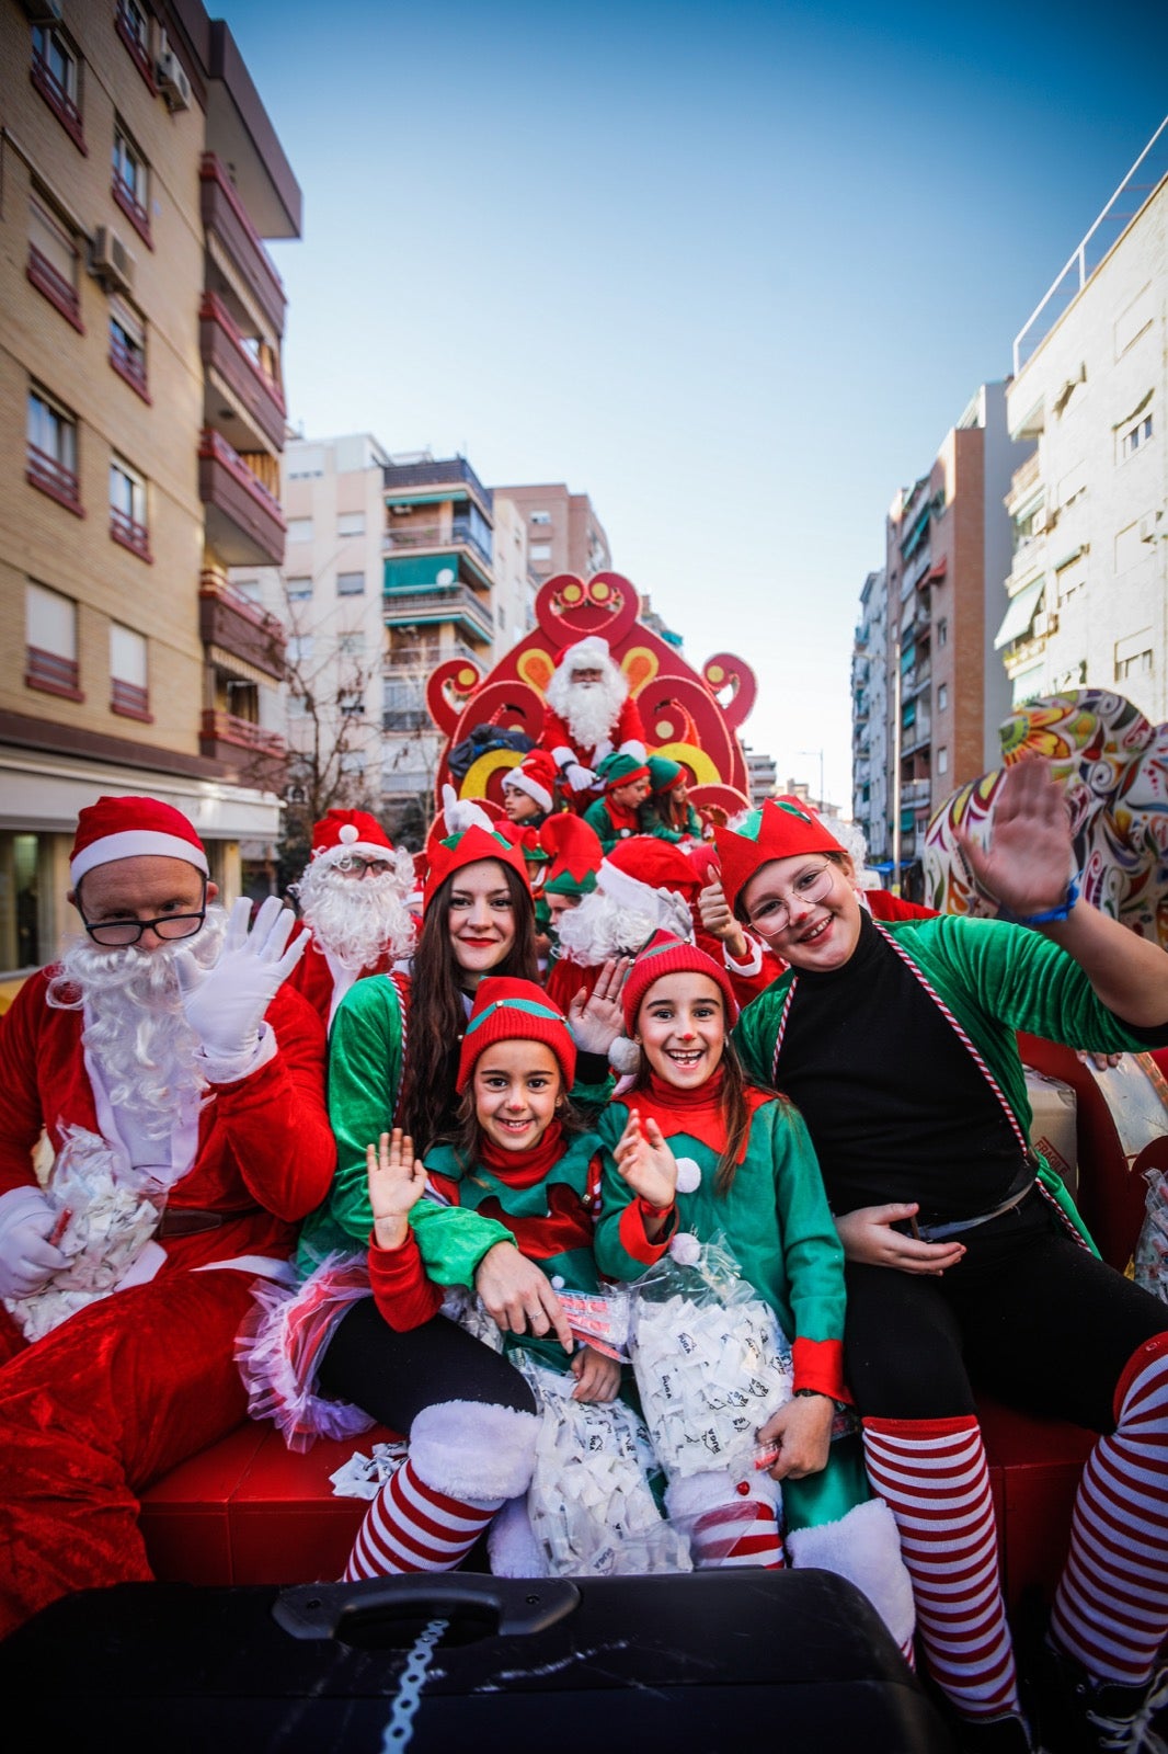
[[[68,1265],[30,1296],[4,1300],[26,1340],[40,1340],[86,1303],[107,1298],[151,1242],[167,1203],[153,1177],[81,1126],[65,1130],[46,1194],[58,1214],[51,1240]]]

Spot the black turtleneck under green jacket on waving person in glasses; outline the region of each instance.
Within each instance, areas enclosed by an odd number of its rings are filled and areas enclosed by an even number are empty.
[[[861,912],[842,968],[800,972],[779,1058],[833,1212],[917,1200],[921,1223],[1007,1198],[1022,1154],[970,1051]]]

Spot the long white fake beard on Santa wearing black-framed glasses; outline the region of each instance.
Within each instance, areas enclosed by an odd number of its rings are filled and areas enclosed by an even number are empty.
[[[214,968],[226,914],[209,907],[191,938],[144,951],[137,944],[105,949],[88,937],[70,938],[53,975],[47,1003],[84,1010],[82,1042],[96,1065],[114,1112],[132,1114],[146,1138],[165,1140],[181,1100],[207,1087],[196,1068],[198,1037],[182,1014],[175,956],[189,951]]]

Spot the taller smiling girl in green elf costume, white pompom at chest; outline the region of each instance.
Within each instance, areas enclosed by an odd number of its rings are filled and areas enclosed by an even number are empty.
[[[870,1496],[856,1440],[831,1444],[845,1393],[844,1252],[798,1112],[742,1077],[728,1040],[737,1016],[726,970],[696,945],[658,931],[633,961],[624,1028],[642,1065],[598,1121],[609,1156],[596,1265],[630,1280],[679,1230],[700,1242],[724,1235],[791,1342],[794,1396],[758,1433],[779,1449],[770,1470],[738,1484],[724,1472],[672,1482],[670,1521],[689,1535],[698,1568],[777,1568],[782,1493],[793,1563],[851,1577],[908,1656],[912,1591],[896,1526]]]

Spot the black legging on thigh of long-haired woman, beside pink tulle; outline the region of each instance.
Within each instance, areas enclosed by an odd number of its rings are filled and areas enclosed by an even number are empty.
[[[361,1298],[342,1316],[321,1361],[319,1387],[407,1437],[417,1414],[438,1401],[535,1412],[524,1377],[482,1340],[445,1316],[396,1333],[374,1298]]]

